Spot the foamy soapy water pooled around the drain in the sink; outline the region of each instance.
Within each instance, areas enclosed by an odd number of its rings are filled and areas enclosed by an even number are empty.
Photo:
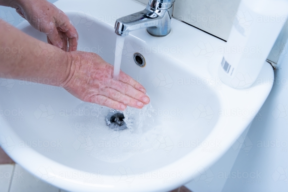
[[[134,154],[153,149],[152,144],[162,129],[151,115],[154,110],[151,104],[143,109],[127,107],[123,111],[127,128],[120,131],[106,125],[105,117],[110,110],[113,109],[87,102],[76,107],[78,115],[70,116],[69,124],[82,143],[80,149],[106,162],[125,161]]]

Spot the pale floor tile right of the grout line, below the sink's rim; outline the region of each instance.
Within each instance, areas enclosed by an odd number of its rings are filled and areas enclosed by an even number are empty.
[[[59,192],[59,189],[41,180],[37,182],[33,175],[16,164],[9,192]]]

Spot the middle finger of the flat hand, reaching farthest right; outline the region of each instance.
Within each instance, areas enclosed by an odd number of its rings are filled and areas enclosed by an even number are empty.
[[[131,85],[129,85],[127,83],[123,83],[122,81],[115,81],[114,79],[112,81],[113,82],[111,82],[111,84],[109,86],[111,88],[119,91],[120,93],[127,95],[129,97],[132,97],[134,99],[137,99],[137,100],[139,100],[145,104],[148,104],[150,102],[150,99],[146,94],[135,89]]]

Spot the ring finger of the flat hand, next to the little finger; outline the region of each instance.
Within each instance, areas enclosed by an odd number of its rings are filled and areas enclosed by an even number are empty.
[[[118,102],[122,102],[126,105],[129,105],[130,107],[135,107],[138,109],[142,109],[144,107],[144,103],[134,99],[132,97],[129,97],[127,95],[124,95],[120,93],[119,91],[112,89],[112,88],[104,88],[101,90],[101,94],[103,94],[106,97],[109,97],[110,99]]]

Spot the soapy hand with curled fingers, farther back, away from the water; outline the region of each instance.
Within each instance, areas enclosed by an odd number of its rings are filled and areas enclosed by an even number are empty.
[[[77,50],[78,33],[75,27],[67,15],[52,3],[46,0],[16,0],[10,6],[34,28],[45,33],[48,43],[64,51]]]

